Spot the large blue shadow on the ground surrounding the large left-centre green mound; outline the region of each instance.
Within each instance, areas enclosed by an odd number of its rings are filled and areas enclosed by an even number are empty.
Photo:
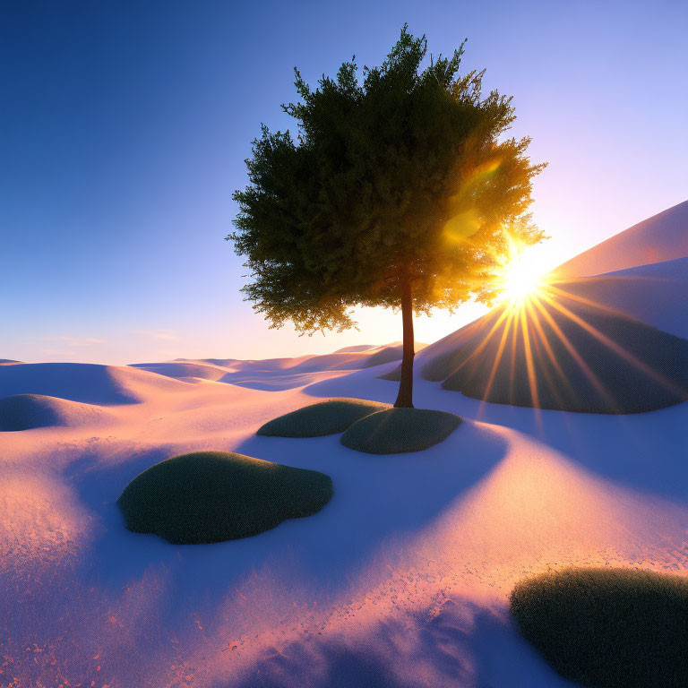
[[[116,452],[128,452],[126,447]],[[322,438],[249,438],[236,448],[260,459],[331,476],[334,495],[321,512],[290,519],[252,538],[211,545],[171,545],[158,536],[133,533],[116,505],[125,486],[144,469],[178,453],[172,447],[132,447],[125,457],[83,452],[64,475],[82,503],[95,512],[94,538],[79,554],[76,579],[120,595],[146,572],[164,577],[162,618],[172,623],[188,606],[215,608],[256,573],[256,585],[309,590],[323,602],[377,566],[388,572],[406,538],[432,528],[434,520],[485,477],[503,458],[495,434],[462,424],[425,452],[372,456]]]

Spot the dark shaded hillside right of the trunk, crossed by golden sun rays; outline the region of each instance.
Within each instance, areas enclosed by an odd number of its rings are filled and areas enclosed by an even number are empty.
[[[475,399],[639,413],[688,399],[688,340],[567,291],[545,288],[426,348],[426,380]]]

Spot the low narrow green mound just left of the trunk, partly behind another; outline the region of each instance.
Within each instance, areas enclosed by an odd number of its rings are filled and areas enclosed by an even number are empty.
[[[274,418],[259,428],[257,434],[275,437],[322,437],[343,433],[348,426],[375,411],[389,409],[389,404],[362,399],[331,399]]]

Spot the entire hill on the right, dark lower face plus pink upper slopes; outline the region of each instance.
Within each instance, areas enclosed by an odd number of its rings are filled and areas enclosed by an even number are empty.
[[[543,409],[632,413],[688,399],[688,202],[551,277],[514,319],[498,306],[421,351],[422,376]],[[399,379],[399,370],[381,377]]]

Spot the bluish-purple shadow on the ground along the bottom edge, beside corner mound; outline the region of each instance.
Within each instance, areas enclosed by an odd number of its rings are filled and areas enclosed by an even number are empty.
[[[409,647],[410,646],[410,647]],[[415,610],[370,624],[355,637],[311,636],[266,649],[228,688],[566,688],[536,649],[520,637],[506,609],[448,599],[439,609]]]

